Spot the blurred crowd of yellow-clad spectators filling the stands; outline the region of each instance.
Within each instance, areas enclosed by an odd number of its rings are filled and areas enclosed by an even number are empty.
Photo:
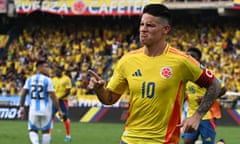
[[[27,22],[11,41],[0,60],[0,94],[16,95],[38,59],[47,59],[50,76],[61,66],[73,83],[72,94],[94,94],[87,89],[88,69],[109,79],[122,55],[141,45],[138,18],[101,18],[66,22]],[[175,24],[169,43],[183,51],[197,47],[202,63],[225,83],[228,91],[240,92],[240,28],[235,25]]]

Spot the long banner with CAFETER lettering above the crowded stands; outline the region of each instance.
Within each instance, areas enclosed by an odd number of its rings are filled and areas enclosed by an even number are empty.
[[[36,10],[59,15],[139,15],[146,4],[156,0],[15,0],[16,12],[31,13]],[[161,3],[161,0],[157,0]],[[155,2],[156,3],[156,2]]]

